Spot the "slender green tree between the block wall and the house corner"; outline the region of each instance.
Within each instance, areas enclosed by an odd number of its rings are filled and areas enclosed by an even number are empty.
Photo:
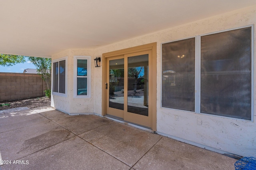
[[[42,74],[42,78],[46,82],[47,90],[51,89],[51,65],[52,61],[48,58],[28,57],[28,60],[36,66],[38,74]]]

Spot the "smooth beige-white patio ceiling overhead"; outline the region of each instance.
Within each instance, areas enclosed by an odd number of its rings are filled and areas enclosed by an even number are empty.
[[[0,0],[0,53],[50,57],[254,4],[255,0]]]

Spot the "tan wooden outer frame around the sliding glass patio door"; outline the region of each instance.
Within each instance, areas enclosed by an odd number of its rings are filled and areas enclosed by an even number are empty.
[[[137,47],[131,47],[128,49],[122,49],[118,51],[112,51],[109,53],[102,54],[102,116],[106,115],[106,90],[105,90],[105,82],[106,82],[106,58],[114,57],[117,55],[125,55],[129,53],[136,53],[140,51],[151,50],[152,52],[152,84],[149,86],[152,87],[152,130],[156,131],[156,43],[150,43],[146,45],[140,45]]]

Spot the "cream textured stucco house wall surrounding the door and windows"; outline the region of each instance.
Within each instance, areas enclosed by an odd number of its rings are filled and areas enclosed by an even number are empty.
[[[54,55],[52,59],[54,60],[58,57],[68,56],[68,76],[72,76],[72,56],[78,55],[77,53],[80,53],[81,55],[91,55],[93,60],[95,57],[102,56],[102,53],[157,42],[157,132],[181,141],[186,141],[195,145],[199,144],[201,147],[208,146],[213,149],[219,149],[242,156],[256,156],[255,121],[244,121],[214,115],[197,114],[189,111],[161,108],[161,43],[256,24],[255,18],[256,6],[251,6],[249,8],[243,8],[219,16],[187,23],[111,45],[106,45],[104,47],[98,47],[94,50],[65,51],[58,55]],[[254,41],[255,40],[254,27]],[[254,44],[254,58],[255,54],[256,47]],[[255,69],[254,75],[256,75]],[[71,107],[72,104],[74,104],[72,101],[76,102],[76,104],[82,103],[81,101],[72,99],[71,91],[73,78],[69,77],[68,80],[68,99],[65,99],[65,101],[64,99],[61,99],[60,102],[54,100],[54,104],[58,107]],[[256,89],[255,85],[256,78],[254,78],[254,89]],[[84,101],[87,102],[86,104],[90,109],[86,110],[84,105],[78,105],[77,107],[80,106],[80,109],[75,107],[72,109],[67,108],[67,110],[71,112],[82,111],[83,113],[85,111],[92,111],[94,113],[101,114],[101,88],[102,67],[95,68],[92,66],[92,100]],[[54,96],[54,98],[59,99],[57,96]],[[256,105],[255,99],[256,92],[254,91],[254,106]],[[254,111],[254,119],[255,118],[256,115]],[[202,125],[197,125],[197,119],[202,119]]]

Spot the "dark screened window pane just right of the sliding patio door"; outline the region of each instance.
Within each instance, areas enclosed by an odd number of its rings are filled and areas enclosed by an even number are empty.
[[[195,111],[195,38],[162,44],[162,107]]]

